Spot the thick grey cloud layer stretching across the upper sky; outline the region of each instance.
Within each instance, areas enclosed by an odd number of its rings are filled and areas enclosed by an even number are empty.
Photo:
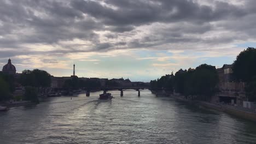
[[[24,54],[23,51],[28,49],[25,44],[59,46],[62,49],[45,53],[64,55],[69,52],[139,47],[162,49],[162,45],[179,43],[225,44],[238,39],[255,38],[255,1],[244,0],[243,5],[235,5],[230,3],[231,1],[209,1],[210,4],[207,5],[199,2],[0,1],[0,50],[4,49],[0,57]],[[141,26],[153,25],[155,27],[148,33],[144,33],[147,31],[146,28],[138,29]],[[231,34],[216,35],[213,38],[203,37],[203,34],[215,31],[229,31]],[[107,34],[100,35],[98,32]],[[239,35],[234,34],[235,32]],[[139,38],[134,37],[136,34]],[[102,36],[111,41],[102,41]],[[87,41],[88,44],[62,43],[74,39]],[[30,49],[27,55],[34,53],[37,52]]]

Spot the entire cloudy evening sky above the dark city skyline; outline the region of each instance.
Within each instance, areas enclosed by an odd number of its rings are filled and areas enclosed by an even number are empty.
[[[256,47],[255,0],[2,0],[0,65],[157,79]]]

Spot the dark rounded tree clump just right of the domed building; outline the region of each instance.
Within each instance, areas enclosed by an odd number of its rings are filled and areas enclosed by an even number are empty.
[[[24,70],[20,76],[22,86],[50,87],[51,76],[44,70]]]

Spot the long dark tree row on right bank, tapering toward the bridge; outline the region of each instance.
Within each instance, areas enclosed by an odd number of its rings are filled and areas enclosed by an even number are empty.
[[[202,64],[196,69],[179,70],[175,74],[150,81],[152,88],[171,89],[185,95],[197,95],[199,100],[209,100],[216,92],[218,74],[212,65]]]

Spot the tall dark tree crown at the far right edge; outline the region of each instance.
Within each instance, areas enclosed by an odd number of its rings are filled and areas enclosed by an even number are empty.
[[[233,71],[237,80],[250,82],[256,76],[256,49],[248,47],[240,52],[234,62]]]

